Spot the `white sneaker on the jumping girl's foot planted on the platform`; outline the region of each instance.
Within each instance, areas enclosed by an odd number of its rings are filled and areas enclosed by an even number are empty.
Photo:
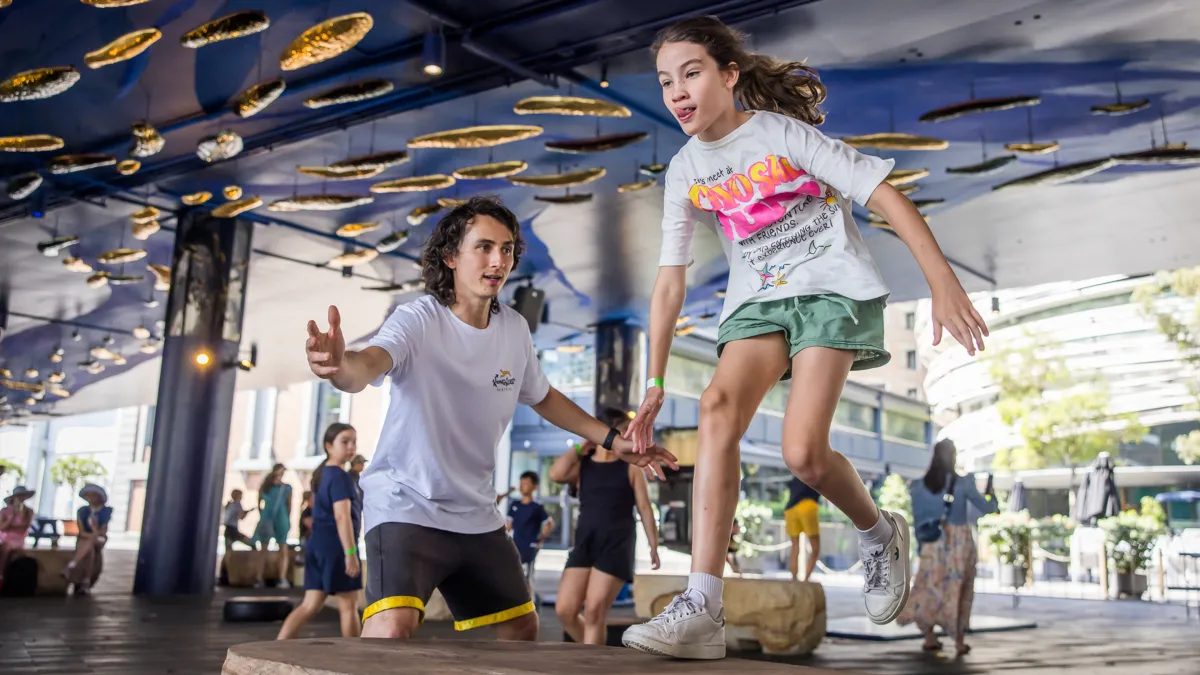
[[[725,658],[725,610],[708,615],[704,597],[684,591],[647,623],[631,626],[620,638],[637,651],[674,658]]]

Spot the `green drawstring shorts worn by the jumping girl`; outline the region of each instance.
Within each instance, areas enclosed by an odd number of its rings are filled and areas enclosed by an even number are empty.
[[[805,347],[853,350],[851,370],[887,365],[892,354],[883,348],[883,307],[888,297],[851,300],[844,295],[798,295],[764,303],[746,303],[721,323],[716,354],[726,342],[782,331],[788,358]],[[788,366],[784,380],[792,377]]]

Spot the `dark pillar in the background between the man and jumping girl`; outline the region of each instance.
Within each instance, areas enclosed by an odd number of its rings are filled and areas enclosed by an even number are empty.
[[[596,327],[595,414],[607,410],[631,411],[646,393],[644,333],[624,321]]]

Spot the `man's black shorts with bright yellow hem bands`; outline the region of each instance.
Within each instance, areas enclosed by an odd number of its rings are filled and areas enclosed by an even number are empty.
[[[366,534],[367,609],[420,611],[442,591],[456,631],[511,621],[534,611],[521,557],[504,528],[461,534],[406,522],[384,522]]]

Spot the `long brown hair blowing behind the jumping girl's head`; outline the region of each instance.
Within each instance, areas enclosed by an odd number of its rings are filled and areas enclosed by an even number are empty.
[[[654,40],[655,56],[667,42],[704,47],[721,70],[737,68],[733,96],[746,110],[767,110],[810,125],[824,121],[821,103],[826,88],[817,72],[802,61],[773,59],[745,48],[746,35],[716,17],[692,17],[662,29]]]

